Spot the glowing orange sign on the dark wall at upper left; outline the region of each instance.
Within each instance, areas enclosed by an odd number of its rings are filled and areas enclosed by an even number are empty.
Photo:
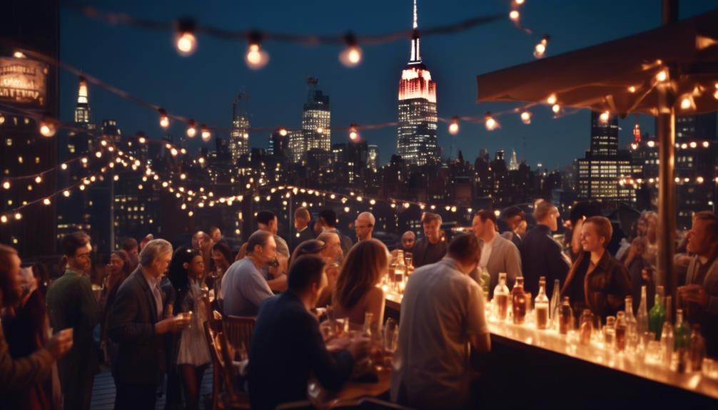
[[[0,57],[0,103],[45,107],[47,65],[27,58]]]

